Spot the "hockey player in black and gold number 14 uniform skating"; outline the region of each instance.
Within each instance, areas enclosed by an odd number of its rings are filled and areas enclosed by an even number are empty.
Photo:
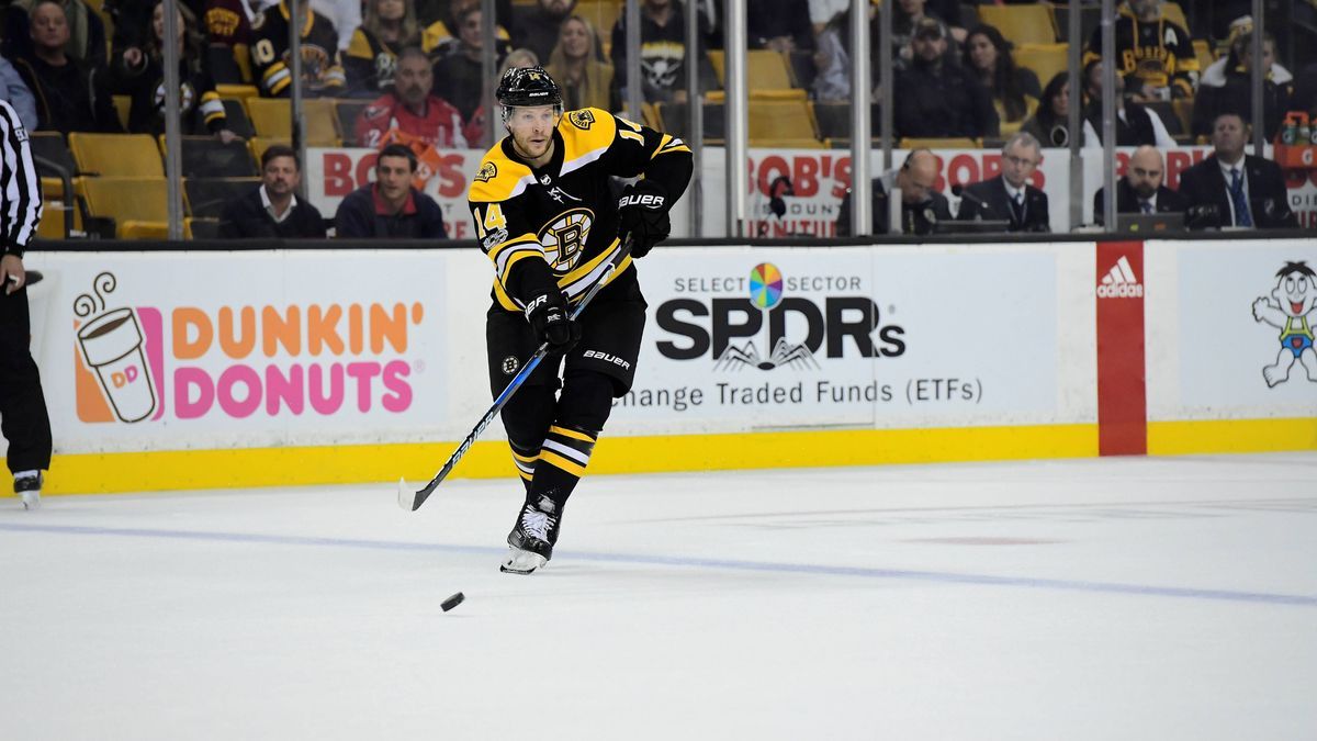
[[[564,113],[543,67],[507,70],[497,98],[508,136],[485,154],[468,198],[495,268],[486,318],[494,394],[541,343],[551,349],[502,411],[525,485],[502,571],[531,574],[553,555],[562,508],[612,400],[635,378],[645,299],[632,260],[668,236],[668,210],[693,165],[680,138],[599,108]],[[615,200],[610,175],[641,179]],[[572,320],[570,305],[627,240],[631,254]]]

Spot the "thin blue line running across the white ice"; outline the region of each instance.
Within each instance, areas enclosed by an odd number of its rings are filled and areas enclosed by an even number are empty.
[[[436,551],[452,554],[503,554],[504,548],[452,546],[443,543],[410,543],[402,541],[363,541],[356,538],[316,538],[307,535],[265,535],[255,533],[207,533],[190,530],[151,530],[138,527],[91,527],[80,525],[16,525],[0,523],[0,530],[13,533],[55,533],[63,535],[115,535],[126,538],[162,538],[175,541],[209,541],[227,543],[261,543],[271,546],[329,546],[378,551]],[[1146,595],[1191,600],[1229,603],[1263,603],[1317,608],[1317,595],[1277,595],[1270,592],[1234,592],[1229,589],[1196,589],[1185,587],[1155,587],[1121,584],[1114,581],[1084,581],[1068,579],[1033,579],[1027,576],[993,576],[988,574],[957,574],[952,571],[910,571],[896,568],[865,568],[855,566],[824,566],[810,563],[781,563],[757,560],[731,560],[710,558],[684,558],[637,554],[565,552],[561,560],[589,560],[598,563],[674,566],[682,568],[710,568],[726,571],[760,571],[770,574],[809,574],[815,576],[853,576],[860,579],[888,579],[906,581],[932,581],[940,584],[981,584],[994,587],[1026,587],[1033,589],[1062,589],[1115,595]]]

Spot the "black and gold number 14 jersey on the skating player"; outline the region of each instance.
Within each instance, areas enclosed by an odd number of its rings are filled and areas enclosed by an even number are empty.
[[[475,236],[494,262],[494,301],[519,311],[556,282],[578,301],[619,249],[610,175],[644,175],[676,203],[691,174],[680,138],[599,108],[569,111],[553,132],[553,158],[532,169],[503,137],[481,161],[468,194]],[[610,282],[635,280],[626,258]]]

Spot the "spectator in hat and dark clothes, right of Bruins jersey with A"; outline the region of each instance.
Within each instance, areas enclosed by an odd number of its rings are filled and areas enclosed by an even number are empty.
[[[1289,112],[1295,92],[1295,78],[1289,70],[1275,63],[1276,40],[1263,34],[1262,59],[1267,75],[1262,83],[1262,116],[1264,137],[1272,140],[1280,121]],[[1218,59],[1202,73],[1198,96],[1193,102],[1193,133],[1209,136],[1212,121],[1221,113],[1238,113],[1245,123],[1252,123],[1252,32],[1239,34],[1230,46],[1230,54]]]

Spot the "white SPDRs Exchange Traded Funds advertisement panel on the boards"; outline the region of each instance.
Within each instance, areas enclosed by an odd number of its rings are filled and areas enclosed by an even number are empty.
[[[1052,249],[698,254],[639,264],[645,343],[614,417],[628,430],[975,425],[1056,410]]]

